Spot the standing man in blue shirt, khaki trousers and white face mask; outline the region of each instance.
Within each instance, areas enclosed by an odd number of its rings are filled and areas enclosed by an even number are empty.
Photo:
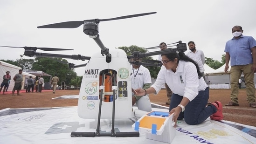
[[[238,80],[244,75],[246,83],[246,100],[249,106],[256,108],[255,103],[255,85],[254,73],[256,72],[256,41],[252,36],[242,35],[242,27],[235,26],[232,28],[233,38],[226,42],[226,66],[225,72],[228,72],[228,63],[230,60],[230,85],[231,101],[226,106],[238,106]]]

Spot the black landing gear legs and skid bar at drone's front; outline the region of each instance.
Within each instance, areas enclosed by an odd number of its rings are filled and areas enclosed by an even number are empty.
[[[104,78],[105,75],[108,75],[109,73],[104,73],[102,76],[101,85],[104,85]],[[116,86],[116,75],[117,72],[114,71],[113,74],[111,74],[111,77],[113,78],[113,87],[117,88]],[[109,137],[139,137],[138,131],[130,131],[130,132],[115,132],[115,101],[116,101],[116,90],[113,89],[113,107],[112,107],[112,129],[110,133],[100,133],[100,118],[101,118],[101,106],[102,106],[102,99],[103,99],[103,90],[101,89],[100,92],[100,104],[99,104],[99,112],[98,112],[98,121],[97,121],[97,129],[96,132],[71,132],[71,137],[101,137],[101,136],[109,136]]]

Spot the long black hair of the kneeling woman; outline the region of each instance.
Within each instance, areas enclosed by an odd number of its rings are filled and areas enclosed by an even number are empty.
[[[178,63],[180,62],[180,60],[185,61],[185,62],[192,62],[192,63],[194,63],[194,65],[196,67],[198,78],[200,79],[203,76],[200,73],[200,70],[199,70],[199,67],[197,65],[197,62],[195,62],[193,59],[191,59],[187,55],[185,55],[184,52],[179,52],[179,54],[177,54],[177,53],[170,53],[170,54],[163,54],[163,55],[165,55],[172,62],[174,61],[175,58],[177,58],[178,59]]]

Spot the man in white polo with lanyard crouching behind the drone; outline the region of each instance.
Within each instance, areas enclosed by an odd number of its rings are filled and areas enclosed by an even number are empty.
[[[134,53],[140,53],[139,51],[134,51]],[[131,61],[136,62],[131,64],[131,88],[132,89],[147,89],[151,86],[151,75],[147,68],[143,65],[140,65],[138,62],[141,62],[140,58],[133,58]],[[134,93],[133,93],[134,94]],[[152,111],[151,102],[148,95],[145,96],[132,96],[132,105],[137,104],[138,110],[143,111]]]

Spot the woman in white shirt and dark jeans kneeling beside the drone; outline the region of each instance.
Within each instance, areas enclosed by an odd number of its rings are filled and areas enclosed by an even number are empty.
[[[177,120],[183,118],[190,125],[200,124],[208,117],[216,121],[223,119],[221,102],[215,101],[207,105],[209,87],[194,60],[187,57],[184,52],[179,52],[163,54],[162,63],[163,66],[154,84],[148,89],[135,89],[134,93],[137,96],[157,94],[167,83],[173,91],[169,114],[173,114],[174,127]]]

